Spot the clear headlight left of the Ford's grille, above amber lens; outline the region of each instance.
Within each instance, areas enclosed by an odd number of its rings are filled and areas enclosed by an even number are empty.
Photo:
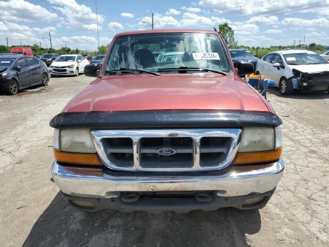
[[[54,130],[53,148],[62,152],[96,153],[90,130]]]

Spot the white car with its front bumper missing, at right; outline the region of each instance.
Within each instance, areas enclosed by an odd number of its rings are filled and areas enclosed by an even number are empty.
[[[298,82],[288,80],[294,76],[293,69],[300,73]],[[258,60],[255,73],[275,81],[283,95],[289,95],[294,89],[301,91],[329,90],[329,79],[326,79],[327,76],[323,77],[323,73],[329,73],[329,63],[320,55],[309,50],[284,49],[270,52]],[[301,78],[302,74],[317,78],[306,82],[304,78]],[[320,74],[322,79],[319,79]],[[301,79],[304,80],[303,84],[298,84],[301,83]]]

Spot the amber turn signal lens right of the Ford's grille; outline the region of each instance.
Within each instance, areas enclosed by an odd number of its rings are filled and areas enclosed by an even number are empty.
[[[281,157],[281,153],[282,148],[263,152],[236,153],[232,164],[237,165],[277,161]]]

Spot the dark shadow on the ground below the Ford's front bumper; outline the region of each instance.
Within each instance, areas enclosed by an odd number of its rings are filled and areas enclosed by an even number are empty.
[[[58,193],[23,246],[247,246],[245,233],[260,227],[258,210],[86,213],[67,205]]]

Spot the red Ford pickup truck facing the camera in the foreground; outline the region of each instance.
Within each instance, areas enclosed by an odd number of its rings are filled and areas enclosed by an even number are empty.
[[[156,57],[166,59],[156,59]],[[266,205],[281,119],[207,30],[119,33],[97,77],[54,116],[51,172],[81,210],[186,212]]]

